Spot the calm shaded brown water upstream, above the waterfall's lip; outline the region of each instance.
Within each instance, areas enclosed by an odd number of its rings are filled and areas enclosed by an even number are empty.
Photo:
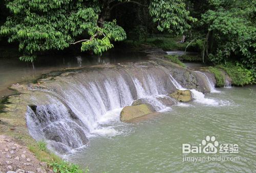
[[[11,94],[8,87],[14,83],[31,82],[42,73],[72,67],[98,64],[122,63],[146,59],[143,53],[112,50],[100,56],[93,55],[48,55],[37,57],[35,62],[22,62],[18,57],[0,58],[0,97]]]

